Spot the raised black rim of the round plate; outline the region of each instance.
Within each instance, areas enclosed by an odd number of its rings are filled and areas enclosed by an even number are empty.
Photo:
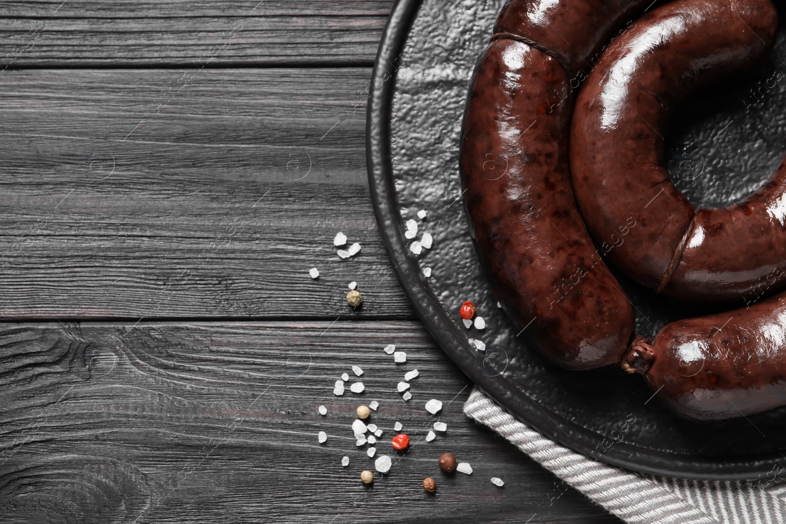
[[[400,60],[395,59],[406,45],[420,6],[421,0],[396,0],[380,40],[369,86],[365,124],[366,167],[382,242],[393,263],[396,277],[399,278],[399,283],[417,316],[435,339],[435,343],[457,368],[516,419],[567,449],[589,458],[592,450],[601,442],[597,432],[564,420],[552,412],[556,419],[562,421],[562,425],[556,423],[547,412],[548,409],[538,405],[523,391],[504,387],[506,382],[495,380],[496,377],[483,373],[476,363],[468,339],[439,306],[439,300],[421,276],[417,260],[406,249],[393,174],[391,116],[400,64]],[[393,262],[399,261],[401,253],[406,253],[403,260],[399,263]],[[630,444],[613,445],[601,457],[599,461],[602,463],[640,473],[719,481],[761,478],[773,471],[779,459],[784,459],[784,456],[777,452],[749,457],[692,456],[659,453],[656,450],[645,453],[641,448]]]

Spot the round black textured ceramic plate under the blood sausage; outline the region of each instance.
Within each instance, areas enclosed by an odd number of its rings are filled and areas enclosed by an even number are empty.
[[[376,59],[367,122],[371,192],[388,255],[421,320],[490,397],[579,453],[683,478],[756,478],[786,464],[786,409],[722,423],[681,420],[652,398],[640,376],[614,367],[567,372],[548,365],[496,307],[463,215],[457,150],[469,75],[501,2],[399,0]],[[746,196],[780,163],[786,149],[784,59],[781,31],[754,75],[721,82],[677,112],[667,137],[668,167],[697,207]],[[426,220],[417,218],[420,209],[428,211]],[[433,236],[431,249],[413,254],[404,234],[407,219],[417,221],[417,239],[424,230]],[[427,267],[432,277],[424,276]],[[641,313],[637,332],[643,335],[710,311],[617,277]],[[487,322],[482,331],[461,324],[458,308],[467,299]],[[470,338],[487,350],[471,346]]]

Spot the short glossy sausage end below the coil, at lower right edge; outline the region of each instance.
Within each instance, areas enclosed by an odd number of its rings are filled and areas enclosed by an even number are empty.
[[[671,409],[721,420],[786,405],[786,292],[750,308],[667,325],[626,354]]]

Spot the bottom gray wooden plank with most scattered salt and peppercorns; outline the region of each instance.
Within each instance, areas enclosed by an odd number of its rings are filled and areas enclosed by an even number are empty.
[[[414,322],[6,325],[0,346],[8,522],[619,522],[466,419],[468,384]],[[412,368],[405,402],[395,384]],[[333,395],[342,372],[365,391]],[[395,464],[369,489],[351,423],[372,400],[377,453]],[[437,418],[448,431],[424,442]],[[390,448],[396,421],[407,453]],[[473,474],[439,471],[448,450]]]

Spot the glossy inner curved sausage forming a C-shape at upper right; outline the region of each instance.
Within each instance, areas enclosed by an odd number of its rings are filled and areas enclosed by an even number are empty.
[[[733,300],[786,267],[786,229],[763,203],[783,195],[782,183],[766,188],[761,205],[699,211],[696,224],[711,230],[700,237],[691,235],[692,205],[663,166],[669,112],[696,89],[758,64],[776,34],[769,0],[674,2],[637,20],[589,74],[571,129],[576,199],[593,238],[614,244],[612,262],[637,282],[681,299]],[[775,236],[740,227],[739,213]],[[620,236],[631,219],[637,227]]]

